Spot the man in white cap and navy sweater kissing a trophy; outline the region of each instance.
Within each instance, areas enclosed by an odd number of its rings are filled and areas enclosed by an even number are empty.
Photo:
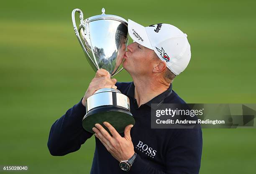
[[[172,81],[190,61],[187,35],[173,25],[145,28],[132,20],[128,32],[135,42],[127,47],[123,67],[133,82],[116,83],[107,71],[98,70],[82,100],[52,125],[49,151],[54,156],[77,151],[93,135],[82,128],[86,99],[100,88],[118,88],[130,98],[135,125],[118,134],[104,122],[109,134],[95,124],[91,174],[198,174],[201,129],[151,129],[151,103],[185,103],[172,90]]]

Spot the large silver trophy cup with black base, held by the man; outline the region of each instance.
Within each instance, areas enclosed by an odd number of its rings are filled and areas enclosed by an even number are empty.
[[[75,22],[76,12],[80,18],[78,29]],[[102,8],[101,15],[85,20],[82,11],[74,9],[72,22],[77,39],[93,70],[96,72],[103,68],[111,76],[119,73],[123,69],[118,71],[128,44],[127,21],[119,16],[106,15],[105,9]],[[130,112],[129,98],[117,89],[102,88],[87,98],[86,115],[82,119],[83,128],[94,133],[92,127],[96,123],[105,127],[104,121],[108,121],[119,133],[124,131],[125,126],[135,124]]]

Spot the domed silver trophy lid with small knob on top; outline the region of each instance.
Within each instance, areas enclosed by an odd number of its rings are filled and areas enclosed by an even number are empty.
[[[120,16],[116,16],[116,15],[106,15],[105,14],[105,8],[102,8],[101,10],[102,14],[101,15],[95,15],[95,16],[92,16],[90,18],[87,18],[85,20],[85,22],[87,23],[90,23],[94,20],[104,20],[104,19],[110,19],[110,20],[117,20],[125,25],[128,25],[128,22],[127,20],[125,20],[124,18],[121,18]]]

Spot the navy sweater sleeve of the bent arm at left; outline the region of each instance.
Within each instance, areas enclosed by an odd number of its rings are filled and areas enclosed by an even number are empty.
[[[80,149],[93,134],[82,127],[85,107],[82,100],[70,108],[51,126],[48,149],[53,156],[63,156]]]

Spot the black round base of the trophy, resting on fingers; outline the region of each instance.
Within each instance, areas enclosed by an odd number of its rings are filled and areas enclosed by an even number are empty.
[[[108,128],[103,124],[104,121],[110,123],[118,133],[123,133],[125,127],[129,124],[135,124],[133,115],[125,108],[118,106],[98,106],[87,112],[82,120],[82,126],[86,131],[95,133],[92,131],[92,128],[98,123],[109,132]]]

